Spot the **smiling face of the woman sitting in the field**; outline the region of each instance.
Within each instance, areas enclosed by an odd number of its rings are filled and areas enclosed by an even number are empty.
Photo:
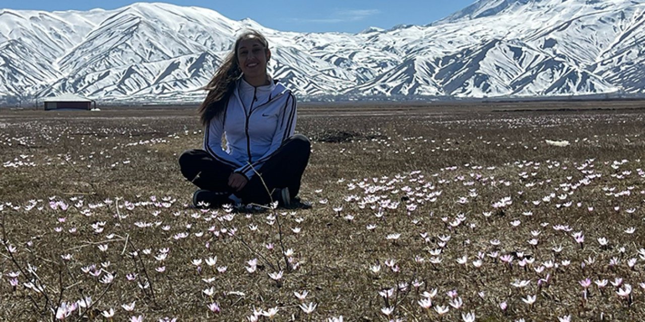
[[[266,64],[271,57],[269,48],[257,38],[249,38],[237,44],[237,63],[249,79],[266,78]]]

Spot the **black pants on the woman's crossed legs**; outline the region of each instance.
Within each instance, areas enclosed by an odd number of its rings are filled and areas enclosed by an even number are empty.
[[[184,177],[201,189],[234,193],[245,204],[268,204],[271,200],[270,193],[275,188],[288,187],[292,198],[298,194],[310,154],[309,139],[301,134],[293,135],[264,162],[261,169],[255,169],[258,173],[252,176],[241,191],[233,191],[228,186],[228,177],[233,173],[233,167],[215,160],[202,149],[182,153],[179,156],[179,167]]]

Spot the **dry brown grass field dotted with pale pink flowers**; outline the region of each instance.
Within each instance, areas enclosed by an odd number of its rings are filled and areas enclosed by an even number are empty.
[[[3,109],[0,320],[639,321],[644,107],[303,105],[314,207],[209,211],[194,109]]]

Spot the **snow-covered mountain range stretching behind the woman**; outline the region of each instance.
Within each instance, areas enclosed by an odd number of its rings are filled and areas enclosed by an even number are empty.
[[[310,99],[645,93],[645,0],[480,0],[426,26],[281,32],[205,8],[0,9],[0,102],[198,101],[235,35]]]

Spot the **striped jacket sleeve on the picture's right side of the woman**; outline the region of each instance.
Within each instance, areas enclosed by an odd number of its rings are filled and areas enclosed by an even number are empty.
[[[273,134],[271,146],[266,153],[264,153],[261,158],[257,159],[257,161],[253,162],[252,166],[247,164],[240,169],[236,169],[235,172],[244,173],[246,178],[250,179],[255,175],[255,171],[259,171],[264,162],[273,156],[275,151],[277,151],[285,140],[293,137],[293,133],[295,132],[295,120],[297,118],[297,102],[292,93],[290,93],[288,99],[286,99],[286,103],[284,104],[280,115],[278,115],[278,118],[279,121],[277,128],[275,129],[275,133]]]

